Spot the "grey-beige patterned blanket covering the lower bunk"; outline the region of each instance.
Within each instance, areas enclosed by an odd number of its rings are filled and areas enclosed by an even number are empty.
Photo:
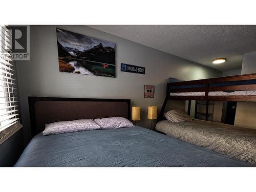
[[[256,130],[196,119],[181,123],[160,121],[156,130],[256,165]]]

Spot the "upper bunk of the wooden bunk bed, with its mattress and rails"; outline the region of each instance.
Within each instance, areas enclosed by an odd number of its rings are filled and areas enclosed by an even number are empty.
[[[209,101],[256,102],[256,73],[167,83],[166,97],[158,121],[164,119],[163,113],[168,100],[188,100],[188,115],[191,100],[206,101],[206,117]]]

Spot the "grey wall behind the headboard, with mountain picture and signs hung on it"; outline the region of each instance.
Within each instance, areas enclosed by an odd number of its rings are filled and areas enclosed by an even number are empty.
[[[116,78],[59,72],[56,27],[85,34],[116,44]],[[31,26],[30,60],[17,61],[17,74],[24,140],[30,140],[28,96],[126,98],[141,106],[138,125],[149,127],[147,106],[160,111],[165,97],[167,78],[182,80],[220,77],[222,72],[195,62],[145,47],[87,26]],[[120,72],[120,63],[145,67],[145,75]],[[143,98],[144,84],[155,86],[155,97]]]

